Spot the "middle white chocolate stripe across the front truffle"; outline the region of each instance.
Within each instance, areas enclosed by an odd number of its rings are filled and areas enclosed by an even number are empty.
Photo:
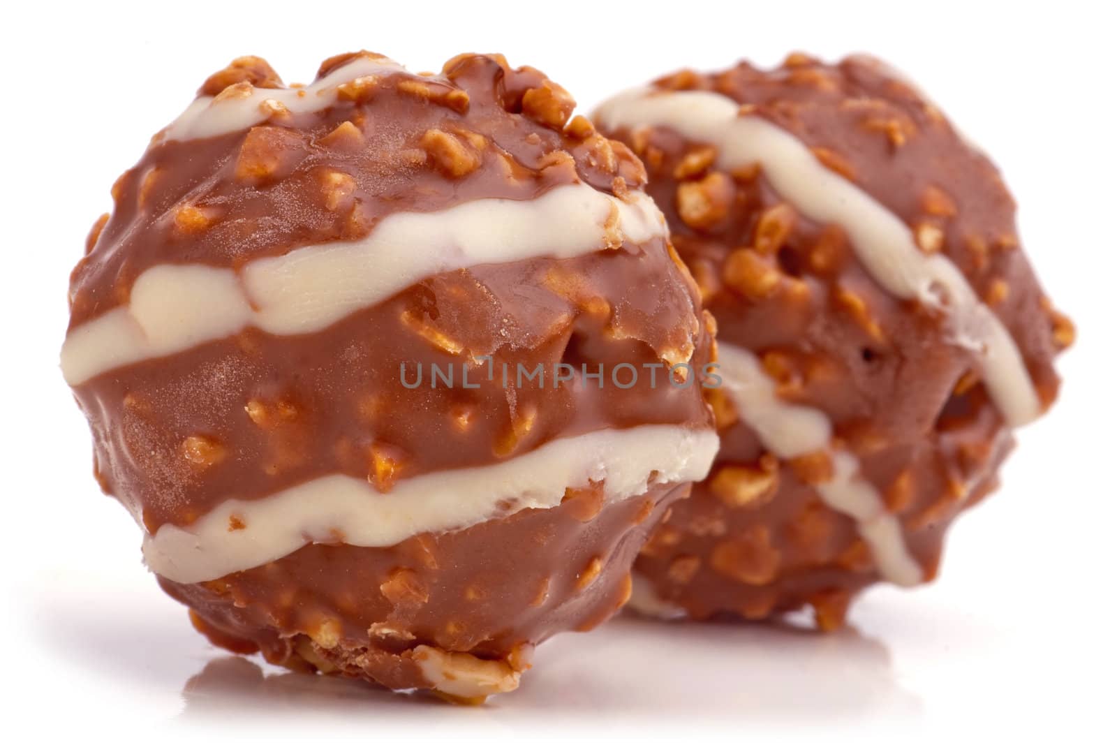
[[[160,265],[136,278],[128,305],[74,328],[66,382],[189,350],[255,326],[277,335],[325,328],[432,275],[536,257],[571,258],[663,236],[643,193],[623,202],[577,183],[528,201],[480,199],[439,212],[398,212],[367,237],[307,246],[239,271]]]

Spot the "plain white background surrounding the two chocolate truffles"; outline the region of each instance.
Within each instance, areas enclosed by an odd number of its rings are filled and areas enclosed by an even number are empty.
[[[0,464],[4,727],[118,742],[302,736],[466,741],[720,728],[871,742],[1113,742],[1117,471],[1115,64],[1102,3],[20,2],[2,21]],[[620,620],[543,647],[519,691],[432,706],[221,655],[140,563],[90,476],[57,369],[67,276],[109,185],[229,59],[287,82],[359,48],[413,70],[503,51],[585,112],[681,66],[873,52],[1004,171],[1043,285],[1077,322],[1062,399],[1023,431],[1003,487],[949,537],[937,584],[870,592],[831,636]],[[679,730],[678,733],[674,730]],[[16,729],[15,732],[19,732]],[[949,737],[949,741],[946,738]],[[9,741],[12,742],[12,741]]]

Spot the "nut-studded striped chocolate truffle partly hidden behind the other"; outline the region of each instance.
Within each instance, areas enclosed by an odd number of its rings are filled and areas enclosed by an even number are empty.
[[[719,327],[722,448],[637,562],[648,612],[841,624],[930,580],[1073,337],[993,164],[865,57],[682,71],[596,113]]]

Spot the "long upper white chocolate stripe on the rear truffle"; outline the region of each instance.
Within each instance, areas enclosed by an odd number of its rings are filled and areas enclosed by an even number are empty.
[[[720,168],[760,163],[772,187],[806,217],[840,226],[869,274],[891,294],[939,307],[955,343],[976,352],[990,395],[1010,426],[1040,414],[1040,401],[1020,350],[1000,319],[946,257],[919,250],[911,230],[852,182],[822,165],[796,137],[716,93],[641,88],[596,112],[605,128],[671,127],[715,144]]]

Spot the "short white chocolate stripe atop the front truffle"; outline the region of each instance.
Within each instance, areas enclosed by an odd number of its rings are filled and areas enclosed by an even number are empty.
[[[357,57],[321,80],[303,88],[252,88],[250,95],[219,98],[199,96],[165,130],[164,140],[201,140],[238,132],[271,115],[265,101],[281,104],[293,114],[322,111],[337,103],[337,86],[365,76],[407,71],[391,59]]]

